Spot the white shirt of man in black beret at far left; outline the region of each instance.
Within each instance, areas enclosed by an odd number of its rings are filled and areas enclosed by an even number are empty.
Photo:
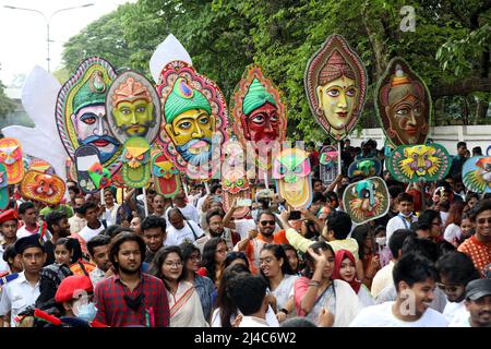
[[[34,305],[39,293],[39,281],[33,287],[25,278],[24,272],[20,273],[16,279],[3,286],[0,316],[11,312],[10,326],[15,327],[15,316],[26,310],[27,306]]]

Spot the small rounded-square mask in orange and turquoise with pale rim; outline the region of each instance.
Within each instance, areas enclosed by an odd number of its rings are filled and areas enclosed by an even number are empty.
[[[361,225],[383,217],[388,212],[388,189],[380,177],[371,177],[349,184],[343,195],[343,205],[352,221]]]

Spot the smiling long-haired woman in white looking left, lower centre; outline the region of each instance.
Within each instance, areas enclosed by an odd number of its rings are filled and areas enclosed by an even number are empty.
[[[294,311],[294,298],[290,293],[298,276],[291,270],[285,250],[279,244],[268,243],[263,246],[260,266],[271,294],[276,298],[275,310],[278,321],[284,321]]]

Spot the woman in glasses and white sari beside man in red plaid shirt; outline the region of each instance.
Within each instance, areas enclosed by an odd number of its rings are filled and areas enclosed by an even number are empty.
[[[169,301],[170,327],[208,327],[195,287],[185,281],[181,249],[166,246],[158,250],[151,275],[164,281]]]

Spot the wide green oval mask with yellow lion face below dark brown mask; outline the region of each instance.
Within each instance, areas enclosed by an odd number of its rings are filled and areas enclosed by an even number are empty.
[[[400,145],[387,158],[387,169],[399,182],[436,181],[445,178],[452,159],[445,147],[431,145]]]

